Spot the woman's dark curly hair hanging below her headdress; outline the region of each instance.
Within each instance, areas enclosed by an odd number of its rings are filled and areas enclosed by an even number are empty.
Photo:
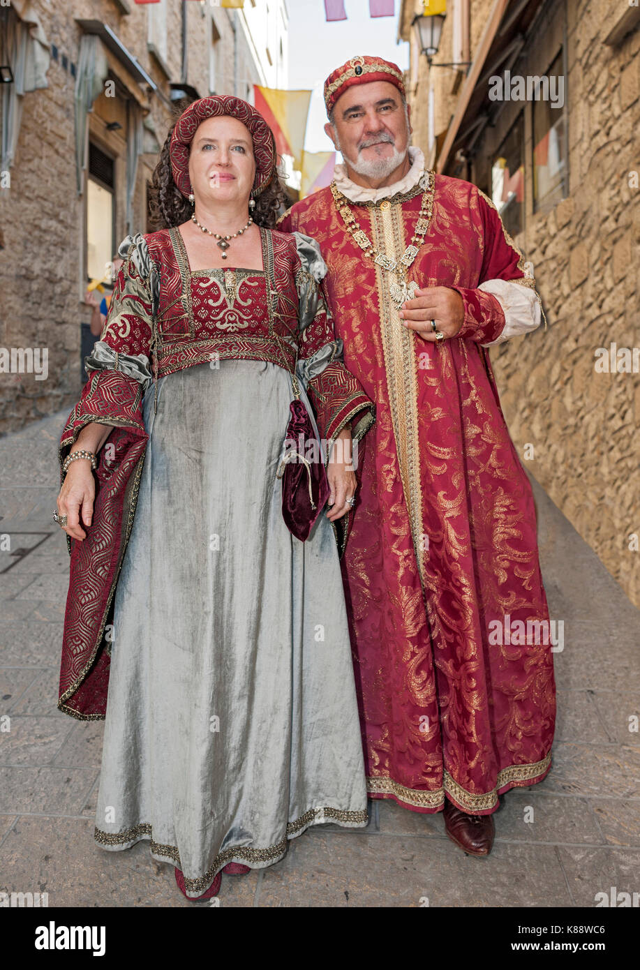
[[[176,122],[169,129],[149,186],[151,232],[179,226],[183,222],[187,222],[193,212],[191,203],[184,198],[177,188],[171,170],[169,146],[175,127]],[[277,174],[277,169],[273,171],[271,181],[267,183],[260,195],[254,196],[254,201],[256,206],[251,213],[253,221],[258,226],[273,229],[279,215],[290,205],[284,185]]]

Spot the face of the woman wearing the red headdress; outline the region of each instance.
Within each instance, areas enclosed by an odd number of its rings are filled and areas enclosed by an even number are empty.
[[[200,124],[191,142],[189,178],[196,202],[244,202],[256,174],[253,142],[238,118],[210,117]]]

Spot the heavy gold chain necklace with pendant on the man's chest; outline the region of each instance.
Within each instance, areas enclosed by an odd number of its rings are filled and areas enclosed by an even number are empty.
[[[413,237],[398,260],[385,256],[383,252],[375,248],[369,240],[367,233],[361,228],[360,223],[349,208],[349,200],[346,196],[342,195],[335,181],[331,183],[331,191],[334,196],[334,202],[336,203],[336,209],[342,216],[344,226],[353,237],[354,242],[358,243],[360,248],[364,250],[365,255],[373,259],[373,262],[377,266],[381,266],[383,270],[387,270],[388,273],[395,276],[395,278],[392,276],[389,280],[389,292],[399,310],[405,300],[413,300],[415,291],[418,289],[418,284],[413,280],[407,284],[406,274],[413,260],[418,255],[419,247],[425,242],[425,235],[429,231],[429,226],[432,221],[433,188],[435,184],[432,171],[425,173],[422,177],[421,187],[424,186],[425,180],[427,185],[422,197],[420,214],[418,215]],[[382,205],[384,205],[384,202]]]

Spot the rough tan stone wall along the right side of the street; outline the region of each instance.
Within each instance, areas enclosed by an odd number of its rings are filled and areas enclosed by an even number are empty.
[[[403,10],[409,6],[407,0]],[[493,6],[471,2],[471,55]],[[566,49],[568,184],[560,202],[534,211],[526,112],[525,227],[516,242],[533,264],[548,327],[493,348],[491,356],[523,462],[640,606],[640,31],[615,47],[604,44],[627,8],[626,0],[547,2],[513,68],[542,75],[560,46]],[[440,60],[451,59],[448,20]],[[424,56],[409,74],[417,77],[410,92],[414,143],[426,148],[429,87],[436,135],[448,127],[458,94],[450,73],[430,72]],[[488,194],[493,160],[521,110],[504,107],[466,169]],[[621,363],[616,372],[596,372],[596,351],[611,352],[612,343],[624,348]],[[621,370],[627,358],[629,372]]]

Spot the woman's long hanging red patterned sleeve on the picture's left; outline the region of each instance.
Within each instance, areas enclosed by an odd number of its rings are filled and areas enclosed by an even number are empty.
[[[105,717],[111,665],[108,629],[148,440],[143,398],[150,378],[148,355],[153,327],[147,257],[143,238],[131,241],[115,280],[102,338],[86,359],[89,378],[69,415],[58,449],[62,482],[62,463],[84,425],[91,421],[112,425],[97,456],[93,517],[85,527],[86,537],[80,541],[67,535],[70,582],[58,707],[80,720]]]

